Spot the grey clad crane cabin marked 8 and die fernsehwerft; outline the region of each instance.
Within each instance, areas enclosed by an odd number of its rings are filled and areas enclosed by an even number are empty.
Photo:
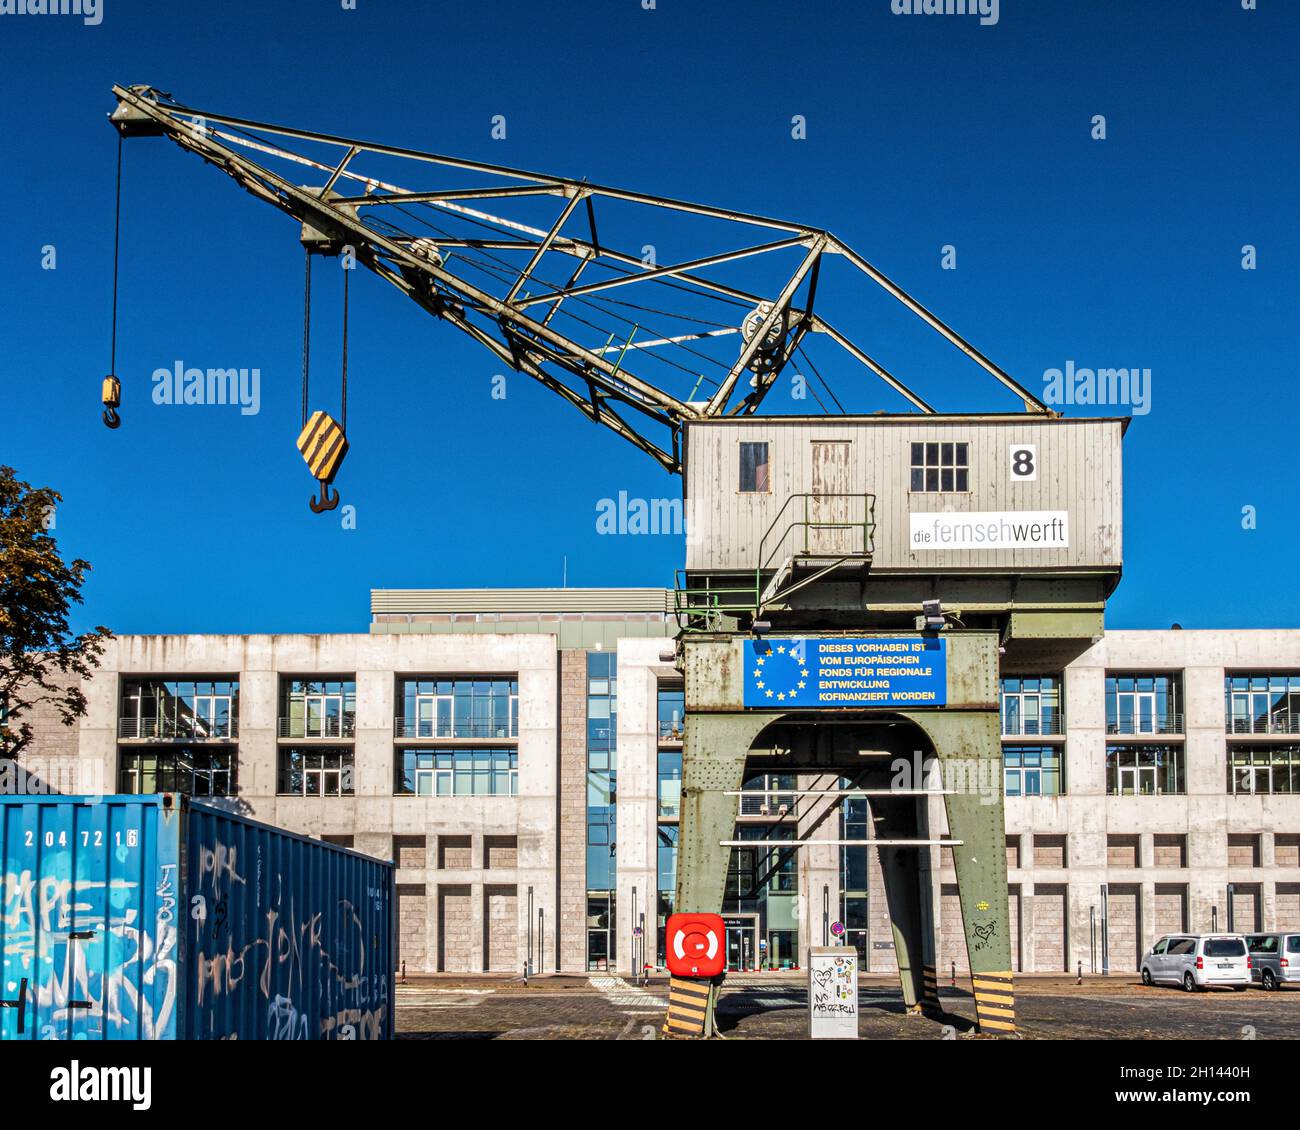
[[[927,602],[1006,640],[1101,631],[1122,568],[1127,417],[724,417],[684,442],[696,631],[915,627]],[[933,605],[930,605],[933,609]]]

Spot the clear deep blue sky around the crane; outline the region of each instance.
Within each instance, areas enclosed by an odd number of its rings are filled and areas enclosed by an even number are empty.
[[[601,498],[671,497],[677,480],[523,377],[493,401],[490,356],[365,274],[338,480],[356,528],[312,515],[292,445],[296,231],[160,140],[125,152],[126,424],[105,429],[104,118],[113,82],[143,82],[828,228],[1035,390],[1067,360],[1150,368],[1108,623],[1300,625],[1300,5],[1002,0],[994,26],[889,0],[103,5],[98,26],[0,16],[0,462],[65,495],[61,546],[94,564],[79,624],[364,631],[370,586],[559,585],[566,558],[571,585],[667,585],[682,554],[680,538],[595,531]],[[944,244],[957,270],[940,269]],[[313,381],[333,395],[337,298],[321,294]],[[1014,407],[956,350],[874,317],[859,338],[937,407]],[[260,368],[261,411],[150,403],[150,374],[176,360]],[[884,391],[853,403],[896,407]]]

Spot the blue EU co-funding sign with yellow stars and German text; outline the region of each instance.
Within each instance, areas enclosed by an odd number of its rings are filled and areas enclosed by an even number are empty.
[[[746,707],[942,706],[948,641],[855,636],[745,641]]]

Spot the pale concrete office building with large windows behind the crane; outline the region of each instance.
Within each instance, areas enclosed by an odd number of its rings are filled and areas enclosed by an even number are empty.
[[[415,971],[659,964],[682,749],[672,593],[376,590],[368,635],[108,646],[52,787],[179,789],[398,861]],[[1300,927],[1300,631],[1113,631],[1001,672],[1013,966],[1136,969],[1174,930]],[[862,798],[745,783],[734,966],[802,965],[832,921],[892,971]],[[944,808],[926,801],[941,834]],[[781,852],[772,840],[827,840]],[[928,852],[941,970],[966,967],[948,848]],[[924,865],[923,865],[924,867]]]

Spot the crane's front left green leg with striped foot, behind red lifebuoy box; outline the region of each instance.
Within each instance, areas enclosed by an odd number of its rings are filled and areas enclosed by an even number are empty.
[[[679,913],[720,914],[727,891],[727,865],[740,797],[727,796],[744,784],[745,758],[771,719],[753,714],[697,714],[686,719],[681,753],[681,819],[677,831]],[[698,988],[677,979],[668,987],[668,1025],[673,1035],[711,1036],[718,986],[710,986],[699,1008]],[[702,1013],[702,1016],[701,1016]],[[673,1017],[682,1017],[676,1023]]]

